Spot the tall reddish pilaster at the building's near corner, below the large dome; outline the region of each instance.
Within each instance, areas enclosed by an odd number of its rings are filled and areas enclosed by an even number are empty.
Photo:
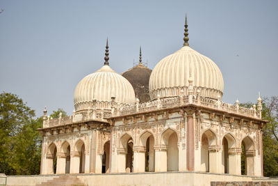
[[[194,118],[193,114],[195,113],[195,110],[188,109],[186,110],[187,113],[187,127],[186,127],[186,164],[188,171],[194,171],[194,156],[195,156],[195,143],[194,143],[194,137],[195,137],[195,131],[194,131]]]

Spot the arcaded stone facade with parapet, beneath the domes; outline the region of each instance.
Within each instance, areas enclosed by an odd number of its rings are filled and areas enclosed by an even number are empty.
[[[42,174],[204,171],[262,176],[261,102],[251,109],[199,95],[165,98],[111,113],[65,118],[44,111]],[[54,170],[56,159],[56,169]]]

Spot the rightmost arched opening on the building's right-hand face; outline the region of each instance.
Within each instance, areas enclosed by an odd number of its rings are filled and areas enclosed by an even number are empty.
[[[241,174],[254,176],[254,142],[250,137],[245,137],[241,142]]]

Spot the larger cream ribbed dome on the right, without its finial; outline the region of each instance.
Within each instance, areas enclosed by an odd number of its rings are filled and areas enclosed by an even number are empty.
[[[149,79],[151,100],[158,94],[161,98],[177,96],[181,90],[187,95],[190,72],[195,93],[199,88],[202,96],[222,97],[224,82],[218,66],[208,57],[185,46],[162,59],[152,71]]]

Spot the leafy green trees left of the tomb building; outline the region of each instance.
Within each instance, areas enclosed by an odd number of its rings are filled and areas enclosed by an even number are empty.
[[[53,111],[67,116],[63,109]],[[42,137],[38,128],[42,117],[35,118],[35,111],[26,106],[17,95],[0,94],[0,173],[28,175],[40,173]]]

